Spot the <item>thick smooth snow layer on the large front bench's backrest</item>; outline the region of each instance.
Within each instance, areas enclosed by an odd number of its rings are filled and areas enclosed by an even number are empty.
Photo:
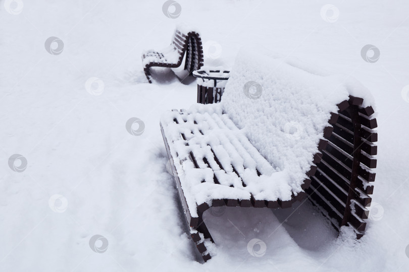
[[[250,50],[250,52],[257,52]],[[222,99],[224,111],[294,192],[306,178],[331,112],[354,95],[373,103],[354,79],[342,81],[295,59],[241,50]]]

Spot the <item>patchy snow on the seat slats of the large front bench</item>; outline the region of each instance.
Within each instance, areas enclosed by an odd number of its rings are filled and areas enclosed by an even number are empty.
[[[220,104],[168,111],[161,124],[191,216],[197,216],[196,205],[213,199],[291,199],[286,174],[260,155]]]

